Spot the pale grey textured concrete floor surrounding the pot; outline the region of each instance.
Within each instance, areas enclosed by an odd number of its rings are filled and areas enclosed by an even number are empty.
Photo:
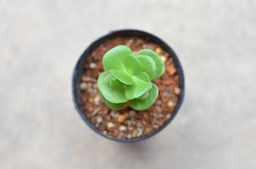
[[[256,168],[256,1],[1,0],[0,168]],[[77,58],[108,31],[154,33],[186,98],[153,138],[117,143],[74,109]]]

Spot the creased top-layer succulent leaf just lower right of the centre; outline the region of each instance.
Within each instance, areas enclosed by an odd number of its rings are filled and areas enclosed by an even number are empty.
[[[142,72],[139,75],[132,76],[134,84],[125,87],[125,97],[134,99],[140,97],[150,87],[150,80],[147,73]]]

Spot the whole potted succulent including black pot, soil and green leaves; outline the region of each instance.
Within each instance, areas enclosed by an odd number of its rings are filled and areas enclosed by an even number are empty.
[[[77,61],[72,94],[90,128],[111,140],[134,142],[155,135],[175,117],[184,75],[172,48],[156,36],[113,31]]]

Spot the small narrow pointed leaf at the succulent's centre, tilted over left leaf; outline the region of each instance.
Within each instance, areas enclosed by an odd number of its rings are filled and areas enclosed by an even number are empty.
[[[124,70],[110,70],[110,73],[114,77],[116,77],[120,82],[127,84],[127,85],[132,85],[134,84],[134,81],[132,79],[132,76],[127,73],[127,71]]]

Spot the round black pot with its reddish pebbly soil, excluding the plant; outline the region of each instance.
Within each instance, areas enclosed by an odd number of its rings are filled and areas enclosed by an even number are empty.
[[[163,75],[152,80],[159,95],[146,110],[133,110],[127,104],[112,110],[100,98],[97,79],[104,72],[102,57],[118,45],[137,54],[143,48],[156,51],[165,65]],[[72,95],[76,110],[96,133],[118,142],[135,142],[156,135],[175,117],[184,98],[184,73],[172,48],[145,31],[112,31],[94,41],[81,55],[72,76]]]

